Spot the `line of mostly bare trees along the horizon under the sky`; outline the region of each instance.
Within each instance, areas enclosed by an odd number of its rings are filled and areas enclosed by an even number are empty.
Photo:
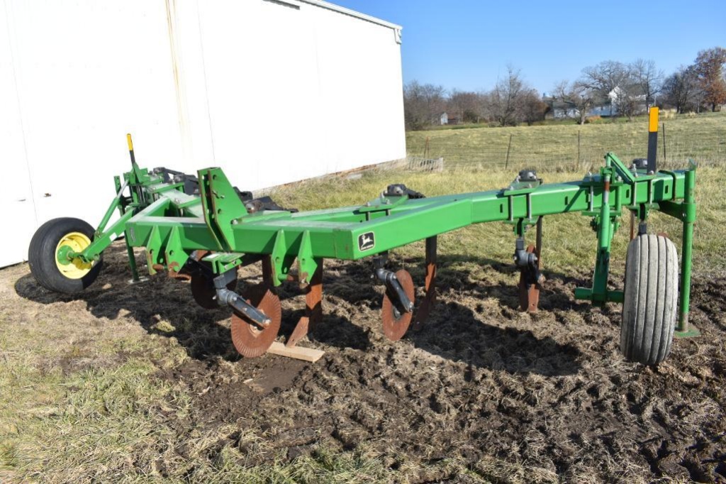
[[[633,118],[651,105],[673,108],[677,113],[716,111],[726,103],[726,49],[698,52],[690,65],[664,75],[653,60],[605,60],[586,67],[574,81],[560,81],[549,94],[540,94],[524,80],[521,70],[507,66],[505,76],[492,89],[479,92],[420,84],[404,85],[407,129],[449,122],[497,126],[533,124],[545,116],[576,118],[584,124],[595,108],[608,107],[612,116]]]

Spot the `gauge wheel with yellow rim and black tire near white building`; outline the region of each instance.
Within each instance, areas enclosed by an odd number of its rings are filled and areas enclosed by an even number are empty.
[[[81,259],[60,259],[64,251],[80,252],[91,245],[94,228],[80,219],[52,219],[41,225],[30,240],[28,264],[30,273],[46,289],[74,294],[91,285],[98,277],[102,259],[83,262]]]

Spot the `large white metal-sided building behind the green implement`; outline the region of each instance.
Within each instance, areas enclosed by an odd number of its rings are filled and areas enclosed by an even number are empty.
[[[319,0],[4,0],[0,267],[129,169],[256,190],[404,158],[401,27]],[[12,233],[12,236],[9,234]]]

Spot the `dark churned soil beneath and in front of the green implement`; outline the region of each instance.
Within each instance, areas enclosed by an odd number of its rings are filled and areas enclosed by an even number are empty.
[[[294,459],[318,445],[365,445],[391,469],[420,462],[420,482],[468,479],[429,465],[445,459],[500,482],[726,482],[726,275],[694,279],[690,320],[702,336],[677,339],[666,363],[647,368],[619,353],[619,305],[575,302],[587,275],[545,271],[540,310],[529,315],[518,310],[511,267],[472,260],[485,267],[474,280],[460,268],[468,266],[448,270],[454,258],[442,255],[425,327],[389,342],[370,263],[326,261],[325,316],[301,342],[325,356],[304,363],[240,359],[228,311],[200,309],[188,283],[165,275],[127,286],[123,256],[118,243],[108,251],[97,285],[112,289],[86,291],[86,310],[129,314],[186,347],[191,358],[158,374],[193,395],[192,414],[175,427],[183,437],[192,427],[234,424],[211,453],[237,447],[242,465]],[[421,259],[394,258],[391,266],[423,284]],[[258,278],[256,267],[240,272],[241,283]],[[16,290],[39,302],[63,298],[30,276]],[[294,285],[280,296],[287,335],[303,297]],[[160,321],[172,331],[160,331]],[[183,445],[177,452],[183,458]]]

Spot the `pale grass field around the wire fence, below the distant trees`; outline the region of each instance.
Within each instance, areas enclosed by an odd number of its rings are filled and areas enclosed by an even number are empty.
[[[726,161],[726,113],[664,119],[666,164],[682,165],[688,158],[701,164]],[[444,157],[452,169],[504,166],[511,137],[510,167],[582,171],[599,166],[603,153],[614,151],[622,159],[645,157],[647,118],[600,124],[551,124],[510,128],[440,129],[409,132],[409,156]],[[579,137],[579,148],[578,148]],[[663,160],[663,132],[659,140]]]

